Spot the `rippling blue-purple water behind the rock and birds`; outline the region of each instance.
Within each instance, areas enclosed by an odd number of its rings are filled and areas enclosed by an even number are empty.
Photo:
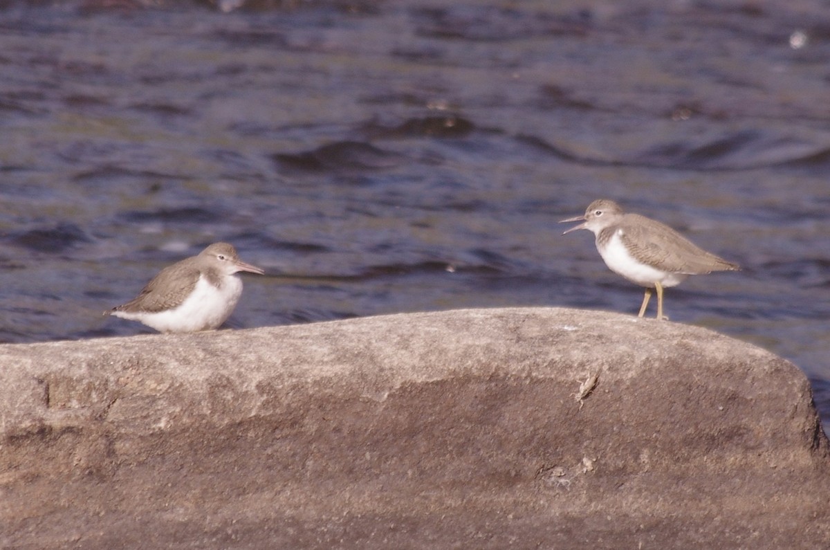
[[[0,46],[0,341],[150,331],[101,312],[218,240],[231,327],[636,314],[556,223],[607,197],[740,263],[666,312],[830,420],[826,2],[0,2]]]

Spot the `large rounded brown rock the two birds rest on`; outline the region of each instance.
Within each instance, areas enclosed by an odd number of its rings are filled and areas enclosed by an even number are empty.
[[[0,388],[2,548],[830,547],[808,381],[697,327],[534,308],[0,346]]]

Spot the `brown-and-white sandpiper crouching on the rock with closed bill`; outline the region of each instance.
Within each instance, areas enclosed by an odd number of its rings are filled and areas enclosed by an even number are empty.
[[[242,279],[236,273],[241,271],[265,273],[242,262],[232,245],[213,243],[197,256],[162,269],[138,297],[104,314],[143,322],[160,332],[210,331],[237,306]]]

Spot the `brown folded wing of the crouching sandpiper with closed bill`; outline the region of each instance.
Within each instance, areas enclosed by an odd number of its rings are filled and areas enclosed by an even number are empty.
[[[173,263],[161,270],[147,283],[137,297],[124,305],[113,307],[115,312],[161,312],[184,301],[199,278],[195,258]]]

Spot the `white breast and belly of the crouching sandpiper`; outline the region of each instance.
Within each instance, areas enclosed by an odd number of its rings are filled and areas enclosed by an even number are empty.
[[[113,315],[143,322],[159,332],[208,331],[227,321],[241,294],[239,277],[222,277],[222,286],[218,288],[199,277],[190,296],[174,309],[157,313],[113,312]]]

